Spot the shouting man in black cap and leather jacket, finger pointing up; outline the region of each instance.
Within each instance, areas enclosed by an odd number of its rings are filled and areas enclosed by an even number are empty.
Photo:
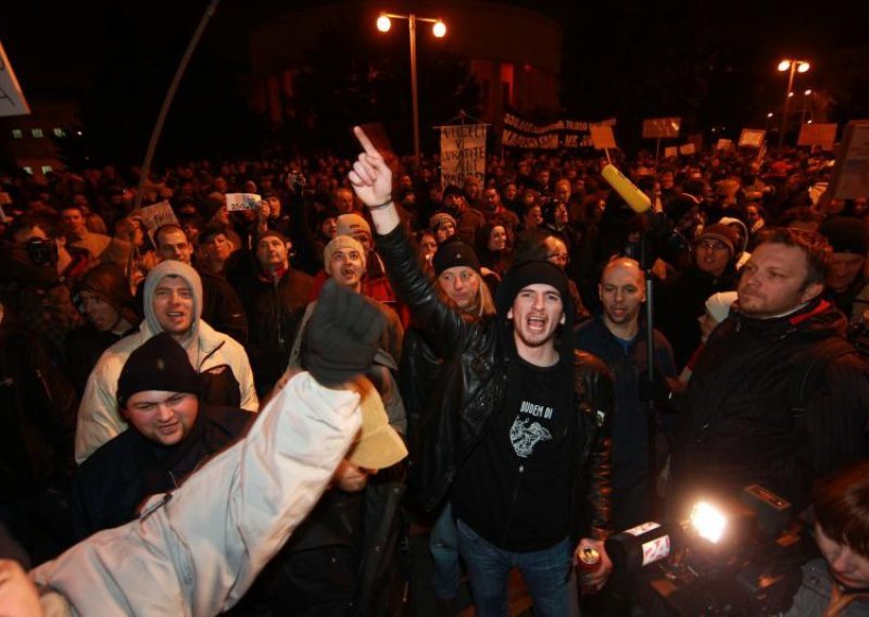
[[[514,566],[537,615],[567,615],[572,555],[600,552],[590,587],[600,589],[612,569],[603,547],[609,373],[574,351],[567,279],[549,262],[514,266],[494,316],[467,323],[443,304],[399,225],[389,167],[362,129],[355,134],[364,152],[350,181],[371,214],[393,288],[445,358],[416,452],[423,505],[451,500],[478,615],[506,614]]]

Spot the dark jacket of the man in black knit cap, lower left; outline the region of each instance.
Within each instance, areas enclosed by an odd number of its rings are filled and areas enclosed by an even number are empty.
[[[79,467],[73,486],[73,514],[79,539],[136,518],[150,495],[177,488],[210,456],[243,436],[255,414],[200,402],[187,438],[160,445],[134,428],[100,446]]]

